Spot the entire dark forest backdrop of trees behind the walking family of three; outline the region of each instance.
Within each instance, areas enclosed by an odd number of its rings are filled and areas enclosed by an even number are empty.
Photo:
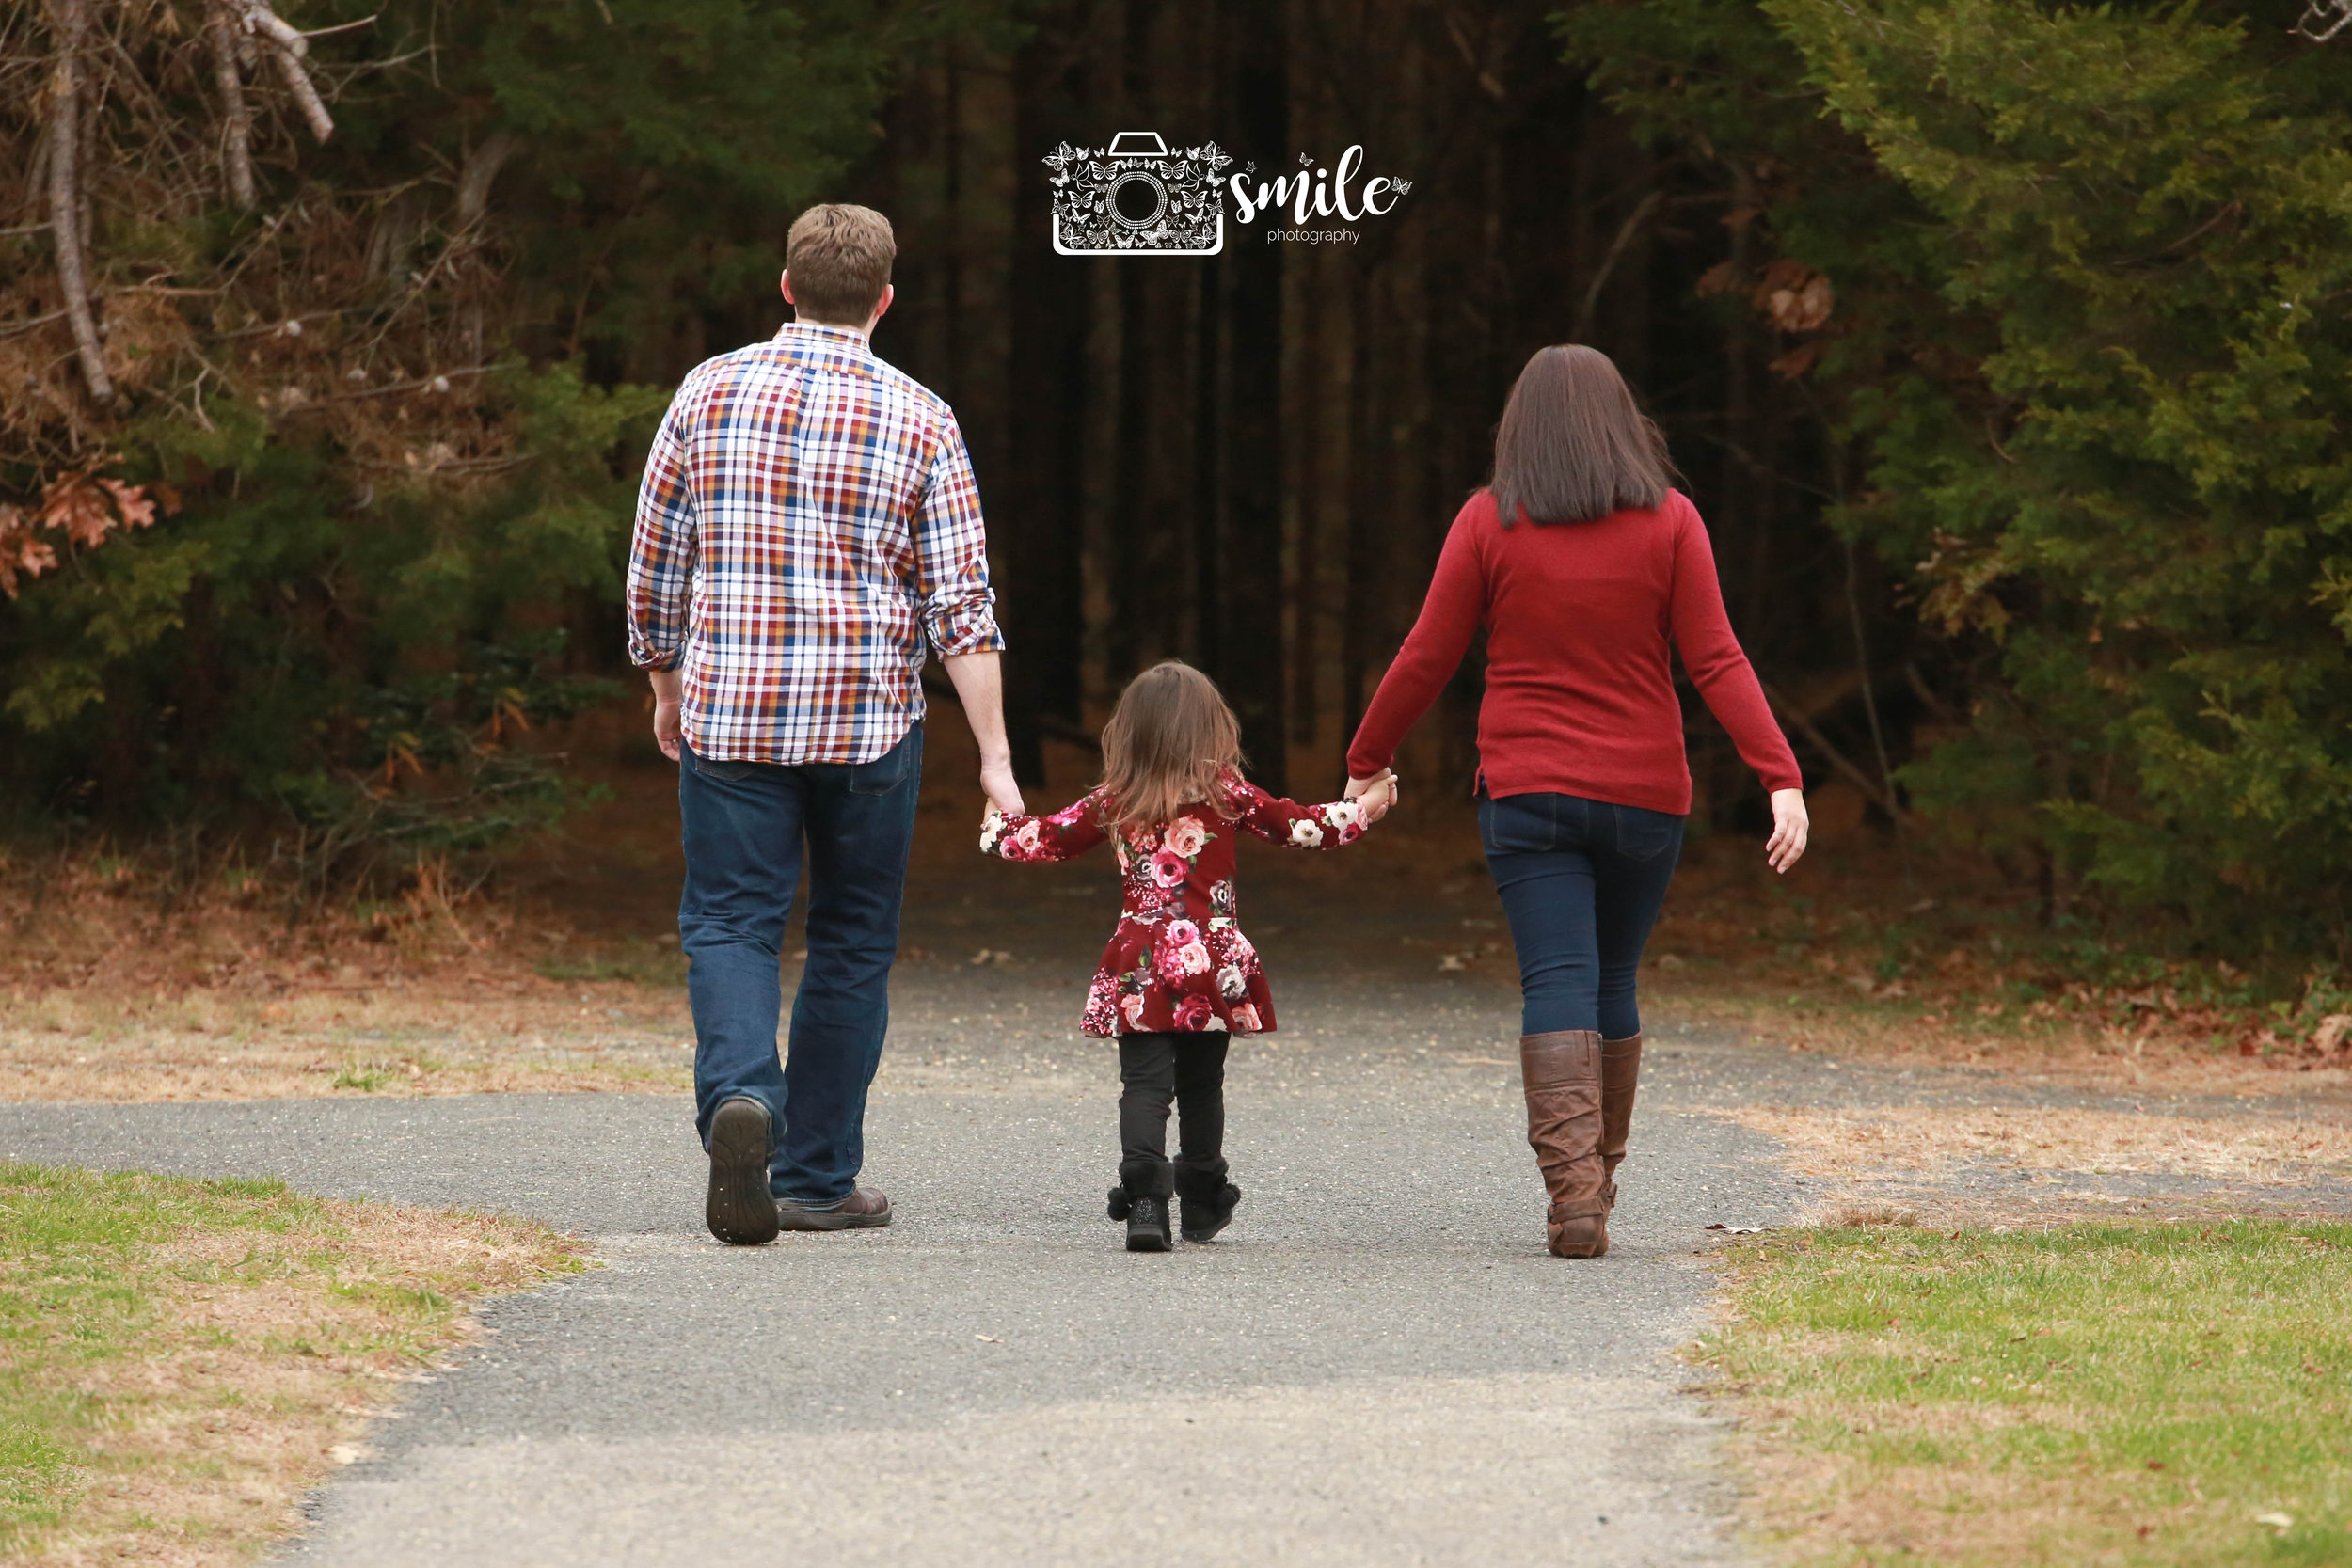
[[[1512,376],[1585,341],[1668,430],[1809,783],[2046,922],[2340,952],[2352,45],[2293,21],[14,7],[12,830],[390,865],[564,811],[532,736],[626,686],[652,418],[774,331],[795,212],[858,200],[898,228],[877,350],[981,475],[1023,773],[1174,654],[1268,785],[1331,792]],[[1044,155],[1124,129],[1268,176],[1362,146],[1411,193],[1355,244],[1054,254]],[[1468,778],[1475,708],[1472,661],[1404,771]],[[1698,825],[1755,830],[1689,712]]]

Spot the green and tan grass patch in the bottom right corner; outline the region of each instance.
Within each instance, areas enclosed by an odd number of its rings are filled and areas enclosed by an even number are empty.
[[[1790,1561],[2352,1563],[2352,1225],[1797,1232],[1731,1302]]]

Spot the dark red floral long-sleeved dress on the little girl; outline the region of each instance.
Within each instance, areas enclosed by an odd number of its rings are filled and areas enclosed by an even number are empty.
[[[990,811],[981,827],[981,853],[1007,860],[1068,860],[1105,837],[1120,856],[1120,929],[1103,947],[1080,1027],[1098,1037],[1270,1034],[1275,999],[1258,950],[1235,924],[1235,839],[1254,832],[1291,849],[1336,849],[1364,835],[1364,809],[1352,799],[1301,806],[1228,773],[1225,811],[1232,816],[1197,804],[1171,823],[1110,835],[1101,811],[1103,792],[1096,790],[1054,816]]]

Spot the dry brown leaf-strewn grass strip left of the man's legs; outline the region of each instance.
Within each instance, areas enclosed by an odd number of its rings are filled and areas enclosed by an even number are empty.
[[[259,882],[103,858],[0,875],[0,1100],[684,1084],[682,987],[607,978],[564,924],[421,886],[289,922]]]

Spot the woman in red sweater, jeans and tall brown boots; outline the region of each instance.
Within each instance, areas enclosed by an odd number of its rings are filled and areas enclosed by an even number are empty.
[[[1668,644],[1771,790],[1771,867],[1795,865],[1806,839],[1804,776],[1670,473],[1609,355],[1536,353],[1503,407],[1494,480],[1454,520],[1421,621],[1348,748],[1357,795],[1486,628],[1477,823],[1519,950],[1526,1140],[1559,1258],[1609,1251],[1642,1072],[1635,971],[1691,811]]]

